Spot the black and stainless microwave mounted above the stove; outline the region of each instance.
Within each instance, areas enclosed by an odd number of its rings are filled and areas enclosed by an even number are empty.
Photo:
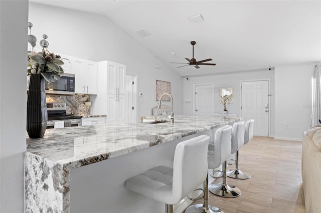
[[[64,73],[58,80],[46,84],[46,94],[75,94],[75,74]]]

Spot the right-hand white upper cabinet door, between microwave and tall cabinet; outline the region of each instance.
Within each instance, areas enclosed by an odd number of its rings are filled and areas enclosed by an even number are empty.
[[[97,94],[97,62],[86,61],[85,69],[85,93],[87,94]]]

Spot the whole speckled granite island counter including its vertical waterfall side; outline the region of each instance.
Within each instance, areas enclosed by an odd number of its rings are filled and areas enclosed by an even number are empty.
[[[47,129],[44,138],[27,138],[26,212],[69,212],[70,169],[232,124],[240,119],[176,115],[174,124],[107,123]]]

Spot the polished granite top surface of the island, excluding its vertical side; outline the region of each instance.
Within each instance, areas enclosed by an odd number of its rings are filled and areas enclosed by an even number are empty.
[[[220,127],[239,117],[177,115],[175,123],[107,123],[47,129],[44,138],[27,138],[27,152],[77,168],[158,143]]]

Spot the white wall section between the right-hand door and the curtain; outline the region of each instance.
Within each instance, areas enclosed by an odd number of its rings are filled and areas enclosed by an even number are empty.
[[[275,138],[302,140],[309,128],[313,69],[308,64],[275,67]]]

